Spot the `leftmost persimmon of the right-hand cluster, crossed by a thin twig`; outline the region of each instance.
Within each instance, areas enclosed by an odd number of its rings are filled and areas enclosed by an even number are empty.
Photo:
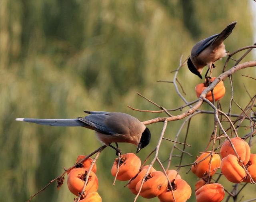
[[[208,156],[206,158],[206,156]],[[206,158],[206,159],[204,159]],[[197,159],[196,164],[191,166],[191,170],[196,176],[202,178],[204,174],[208,174],[209,166],[210,166],[210,158],[211,155],[209,153],[202,153]],[[204,160],[202,160],[204,159]],[[202,160],[201,162],[199,162]],[[199,162],[199,163],[197,163]],[[220,156],[218,154],[213,154],[212,156],[212,164],[210,169],[210,175],[213,175],[217,170],[216,168],[220,167]]]

